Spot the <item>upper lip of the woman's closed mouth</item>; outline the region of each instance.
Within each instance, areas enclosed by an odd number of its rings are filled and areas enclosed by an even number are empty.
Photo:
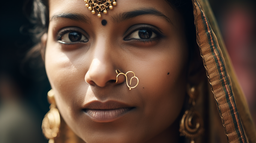
[[[128,104],[121,103],[118,101],[91,101],[84,105],[84,109],[92,109],[92,110],[111,110],[111,109],[121,109],[121,108],[132,108],[133,106],[129,106]]]

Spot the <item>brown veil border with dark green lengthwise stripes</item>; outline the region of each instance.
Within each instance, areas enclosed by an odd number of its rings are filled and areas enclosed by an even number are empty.
[[[230,76],[218,40],[197,0],[194,7],[197,43],[204,60],[207,77],[215,95],[218,111],[229,143],[247,143],[241,119],[236,108]]]

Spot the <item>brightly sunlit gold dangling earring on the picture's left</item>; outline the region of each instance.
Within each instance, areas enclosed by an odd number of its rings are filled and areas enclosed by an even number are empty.
[[[54,99],[54,91],[51,89],[48,92],[48,102],[50,105],[50,111],[44,116],[42,123],[42,129],[44,136],[49,140],[49,143],[54,143],[54,138],[58,136],[58,132],[61,124],[61,117],[56,108]]]

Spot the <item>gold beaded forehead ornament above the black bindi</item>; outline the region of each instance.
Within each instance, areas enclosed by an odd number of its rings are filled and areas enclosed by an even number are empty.
[[[115,0],[84,0],[86,3],[85,6],[92,11],[92,14],[95,14],[95,11],[98,11],[98,17],[101,17],[100,12],[103,11],[104,14],[107,14],[107,9],[113,9],[113,6],[116,6]],[[113,6],[112,6],[113,4]]]

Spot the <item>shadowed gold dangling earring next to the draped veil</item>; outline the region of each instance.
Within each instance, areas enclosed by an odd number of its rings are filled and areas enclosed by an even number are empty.
[[[195,143],[194,139],[204,133],[204,123],[200,114],[195,111],[195,100],[198,98],[198,89],[188,86],[189,110],[187,110],[180,120],[180,135],[189,138],[190,143]]]

